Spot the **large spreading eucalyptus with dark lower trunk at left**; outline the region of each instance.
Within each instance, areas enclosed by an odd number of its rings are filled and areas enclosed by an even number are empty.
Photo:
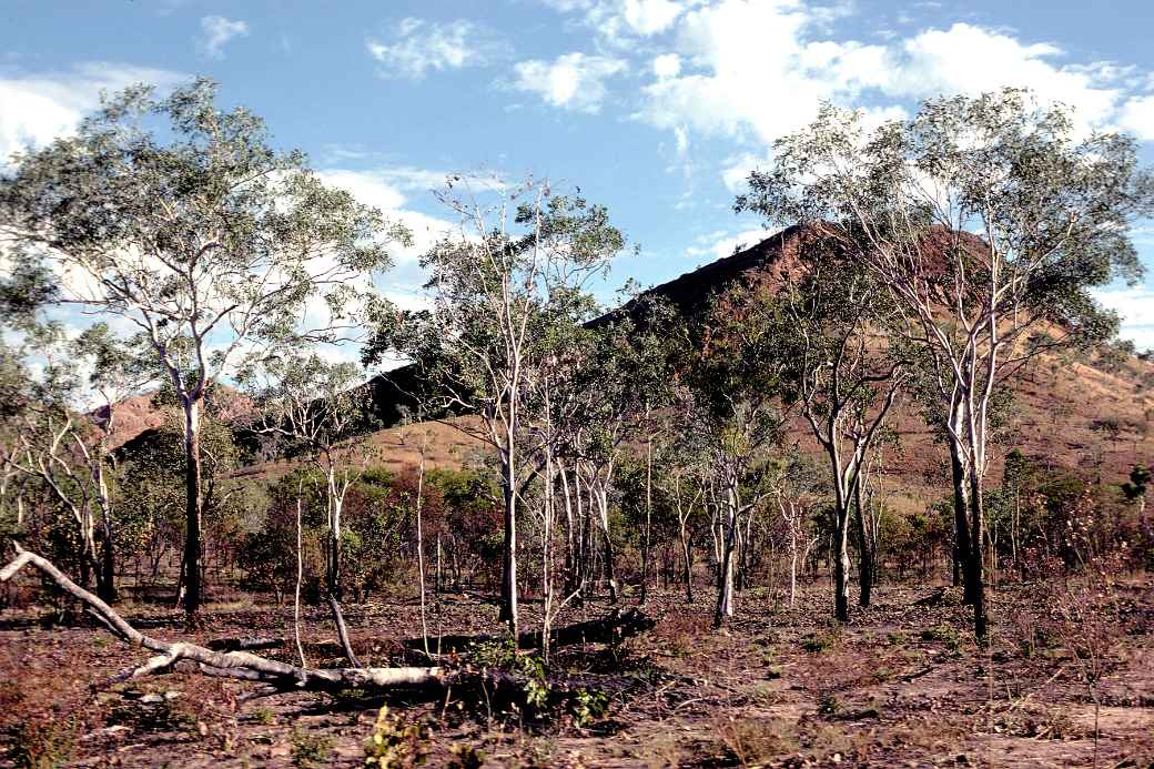
[[[75,135],[17,154],[0,176],[9,254],[43,255],[57,300],[117,316],[175,393],[186,463],[185,606],[202,602],[201,416],[240,358],[353,328],[359,281],[407,232],[325,187],[263,121],[219,109],[196,80],[160,98],[105,98]],[[301,319],[305,319],[304,321]],[[315,321],[315,322],[314,322]]]

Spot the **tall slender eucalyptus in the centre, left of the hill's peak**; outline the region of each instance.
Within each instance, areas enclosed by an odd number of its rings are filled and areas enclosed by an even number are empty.
[[[487,188],[486,188],[487,187]],[[439,193],[455,229],[421,259],[430,306],[382,313],[367,361],[399,356],[415,367],[422,410],[470,413],[455,427],[497,454],[504,509],[501,619],[514,633],[517,607],[517,515],[537,470],[525,446],[524,408],[541,369],[553,324],[589,320],[575,297],[624,247],[608,211],[546,181],[492,188],[454,178]],[[576,314],[576,316],[574,316]]]

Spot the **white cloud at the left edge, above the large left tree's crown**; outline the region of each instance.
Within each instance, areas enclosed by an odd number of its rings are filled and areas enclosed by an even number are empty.
[[[163,69],[108,62],[0,77],[0,165],[17,150],[72,134],[84,114],[99,106],[100,91],[134,83],[167,88],[183,79]]]

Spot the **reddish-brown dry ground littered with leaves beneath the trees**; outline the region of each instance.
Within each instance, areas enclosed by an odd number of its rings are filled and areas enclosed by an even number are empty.
[[[995,591],[994,640],[980,649],[952,589],[883,587],[840,628],[826,619],[827,584],[811,585],[793,611],[755,589],[721,632],[707,600],[660,591],[645,607],[653,630],[554,651],[546,716],[516,692],[488,689],[238,702],[252,685],[181,672],[93,689],[147,655],[83,621],[50,624],[47,609],[9,609],[0,614],[0,766],[361,766],[382,704],[400,718],[392,733],[419,727],[402,741],[429,766],[1154,766],[1152,583],[1118,588],[1109,628],[1093,618],[1055,624],[1051,595],[1036,584]],[[153,635],[189,639],[174,611],[121,611]],[[607,612],[591,603],[562,624]],[[364,662],[419,663],[400,643],[420,635],[415,603],[346,615]],[[291,607],[247,599],[213,604],[210,629],[192,636],[288,640],[290,617]],[[429,625],[496,632],[496,607],[450,595]],[[306,641],[310,664],[340,664],[319,609]],[[262,654],[294,656],[291,641]]]

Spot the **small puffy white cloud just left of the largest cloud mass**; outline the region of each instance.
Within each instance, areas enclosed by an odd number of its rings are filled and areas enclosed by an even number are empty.
[[[605,81],[628,69],[610,57],[565,53],[553,61],[532,59],[514,67],[512,88],[539,95],[548,104],[580,112],[598,112],[607,89]]]

